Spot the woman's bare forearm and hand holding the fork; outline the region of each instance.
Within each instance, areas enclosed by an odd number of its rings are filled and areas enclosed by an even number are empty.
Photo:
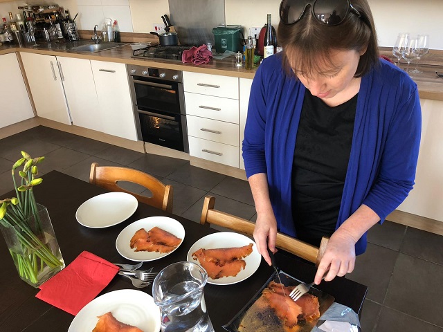
[[[355,266],[355,243],[380,220],[379,216],[366,205],[361,205],[344,223],[332,234],[327,243],[325,255],[318,265],[315,283],[320,284],[326,271],[325,281],[334,277],[343,277],[351,273]]]

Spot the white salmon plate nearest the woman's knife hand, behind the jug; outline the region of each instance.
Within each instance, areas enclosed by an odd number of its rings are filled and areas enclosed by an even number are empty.
[[[246,261],[246,267],[241,270],[235,277],[221,277],[219,279],[211,279],[208,277],[208,284],[216,285],[230,285],[237,282],[242,282],[244,279],[251,277],[253,273],[260,266],[260,261],[262,260],[262,255],[258,253],[257,245],[255,242],[242,234],[234,232],[219,232],[214,234],[206,235],[202,237],[199,241],[195,242],[188,252],[188,261],[193,261],[200,265],[198,259],[192,258],[192,252],[199,250],[200,248],[205,249],[216,249],[216,248],[236,248],[242,246],[248,246],[249,243],[253,243],[251,255],[246,256],[244,261]]]

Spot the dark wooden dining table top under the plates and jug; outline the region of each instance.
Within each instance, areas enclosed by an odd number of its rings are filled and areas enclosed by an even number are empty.
[[[152,267],[154,272],[159,272],[177,261],[186,261],[192,244],[208,234],[217,232],[213,228],[143,203],[139,203],[136,212],[123,223],[107,228],[87,228],[75,219],[76,210],[84,201],[107,190],[57,171],[48,172],[42,178],[42,184],[35,187],[35,198],[37,203],[45,205],[48,209],[66,266],[84,250],[114,263],[134,263],[118,254],[116,238],[127,225],[148,216],[170,216],[179,221],[186,232],[183,243],[171,255],[144,262],[143,268]],[[15,196],[15,192],[3,195],[0,199],[12,196]],[[275,254],[275,260],[282,271],[296,279],[304,282],[314,279],[316,268],[287,252],[279,250]],[[0,261],[0,331],[67,331],[74,316],[35,297],[39,289],[19,278],[6,242],[1,239]],[[206,284],[204,296],[215,331],[224,331],[222,326],[242,311],[272,274],[273,268],[262,259],[257,271],[242,282],[231,285]],[[134,288],[129,279],[120,275],[116,275],[100,295],[128,288],[140,289],[152,295],[152,285],[147,288]],[[345,277],[336,277],[332,282],[322,282],[318,289],[332,295],[336,302],[349,306],[358,314],[361,313],[368,291],[367,286]]]

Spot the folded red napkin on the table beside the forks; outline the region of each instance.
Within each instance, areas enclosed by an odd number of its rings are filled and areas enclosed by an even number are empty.
[[[72,315],[91,302],[118,273],[118,266],[84,251],[40,286],[35,295]]]

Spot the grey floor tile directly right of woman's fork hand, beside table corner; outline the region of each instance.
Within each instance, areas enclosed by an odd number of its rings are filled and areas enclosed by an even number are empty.
[[[346,277],[368,286],[368,299],[383,303],[392,270],[399,253],[368,243],[368,249],[356,258],[354,271]]]

